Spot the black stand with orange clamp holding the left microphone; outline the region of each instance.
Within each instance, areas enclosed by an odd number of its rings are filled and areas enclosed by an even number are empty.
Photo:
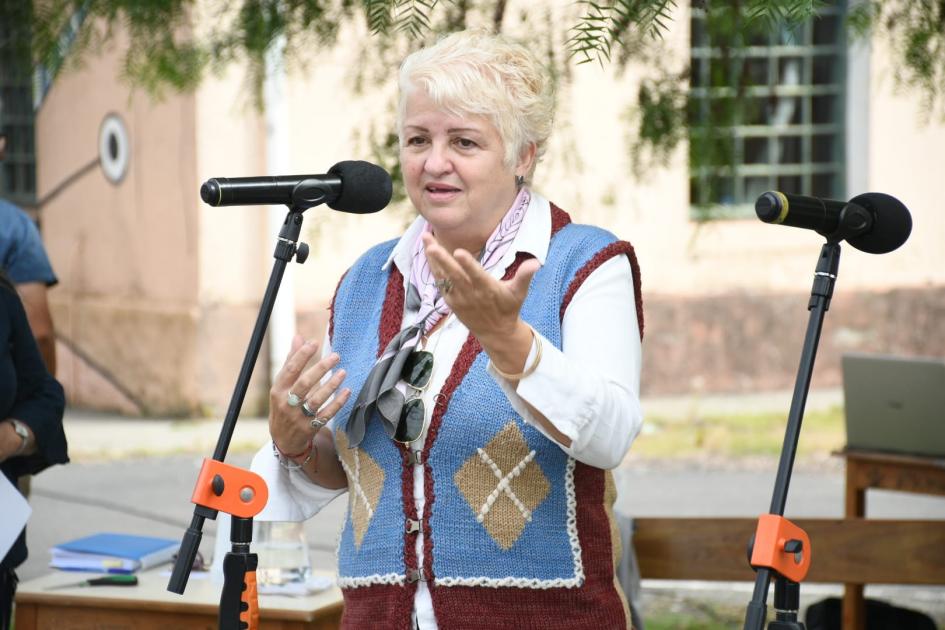
[[[279,285],[285,273],[286,264],[295,258],[302,264],[308,258],[308,245],[298,243],[302,231],[302,213],[308,208],[322,203],[324,199],[294,198],[288,206],[279,240],[273,256],[275,262],[269,275],[269,284],[259,306],[259,315],[253,328],[246,355],[240,368],[236,387],[230,398],[230,405],[220,430],[220,437],[212,459],[204,459],[203,468],[197,478],[197,484],[191,498],[196,504],[190,527],[181,541],[174,570],[168,582],[167,590],[182,595],[190,577],[191,567],[203,536],[205,519],[215,519],[219,511],[233,516],[230,528],[231,551],[223,561],[223,591],[220,595],[219,628],[220,630],[253,630],[259,623],[259,606],[256,594],[255,553],[250,553],[253,535],[253,517],[266,505],[268,489],[262,477],[253,472],[229,466],[223,463],[226,457],[236,420],[239,417],[243,399],[249,388],[249,379],[253,366],[262,347],[263,335],[269,325],[269,317],[279,292]],[[218,535],[220,535],[218,533]]]

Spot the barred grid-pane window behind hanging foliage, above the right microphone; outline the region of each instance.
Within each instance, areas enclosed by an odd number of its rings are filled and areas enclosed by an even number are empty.
[[[756,103],[768,101],[767,105],[760,108],[767,109],[765,118],[768,122],[757,124],[757,121],[735,120],[731,126],[717,127],[723,131],[723,139],[731,142],[728,150],[731,151],[732,162],[728,165],[697,164],[693,152],[699,150],[694,145],[700,141],[700,127],[695,124],[690,126],[691,219],[700,221],[754,216],[754,199],[765,190],[844,197],[848,64],[845,17],[845,3],[840,0],[821,9],[816,17],[791,29],[769,29],[765,33],[767,44],[757,45],[752,42],[752,45],[728,51],[728,60],[732,64],[728,72],[733,76],[744,73],[746,63],[764,61],[765,83],[749,83],[740,91],[742,97],[755,99]],[[712,61],[726,57],[720,47],[713,47],[709,41],[710,35],[704,20],[705,11],[693,7],[690,16],[689,106],[693,115],[711,122],[713,104],[722,103],[720,99],[736,97],[739,90],[732,86],[709,86]],[[825,24],[828,25],[826,30]],[[815,43],[815,33],[819,40],[823,40],[826,34],[833,41]],[[815,67],[818,59],[824,59],[827,65]],[[782,60],[799,60],[801,67],[796,83],[782,82]],[[830,71],[828,80],[815,83],[815,71],[822,71],[825,67]],[[724,74],[726,68],[723,67],[721,72]],[[792,118],[787,122],[772,124],[772,103],[776,103],[773,107],[780,108],[782,103],[791,102],[788,99],[793,99],[797,103],[794,107],[799,106],[800,111],[795,109],[791,112]],[[815,105],[818,106],[816,111]],[[748,111],[750,105],[743,101],[737,107]],[[827,121],[822,120],[825,112],[829,112]],[[816,122],[815,113],[818,116]],[[737,113],[732,116],[738,118]],[[764,160],[752,158],[751,152],[746,152],[746,141],[752,139],[762,140],[766,156]],[[799,143],[795,143],[795,140]],[[759,146],[756,144],[754,148],[758,149]],[[815,154],[827,159],[815,162]],[[782,161],[785,155],[790,161]],[[718,191],[726,180],[731,182],[730,201],[711,198],[713,186],[717,186],[715,190]],[[702,203],[698,200],[700,196],[705,200]]]

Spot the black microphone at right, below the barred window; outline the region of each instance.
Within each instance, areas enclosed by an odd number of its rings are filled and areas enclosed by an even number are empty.
[[[771,190],[755,201],[755,213],[765,223],[814,230],[831,240],[845,239],[868,254],[891,252],[912,233],[909,210],[883,193],[863,193],[843,202]]]

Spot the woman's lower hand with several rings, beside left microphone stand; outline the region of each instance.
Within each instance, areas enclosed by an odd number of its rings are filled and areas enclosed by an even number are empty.
[[[324,383],[321,382],[338,364],[340,358],[336,353],[323,357],[306,369],[312,357],[318,354],[318,349],[317,341],[303,342],[302,337],[296,335],[289,356],[269,390],[269,434],[276,448],[283,453],[305,452],[319,424],[338,413],[351,395],[350,389],[338,389],[345,378],[344,370],[336,371]],[[290,393],[300,399],[297,406],[289,405]],[[302,403],[316,411],[315,418],[305,415]]]

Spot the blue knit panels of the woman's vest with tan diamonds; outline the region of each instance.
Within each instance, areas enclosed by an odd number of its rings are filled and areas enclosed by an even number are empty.
[[[595,254],[616,240],[605,230],[575,224],[551,240],[521,315],[557,348],[568,287]],[[346,386],[355,393],[377,358],[389,277],[381,266],[394,244],[362,256],[335,296],[332,348],[348,372]],[[575,461],[515,412],[487,364],[488,356],[479,352],[441,422],[430,428],[434,439],[428,438],[424,449],[433,481],[426,488],[424,515],[430,537],[426,549],[432,543],[425,558],[427,578],[438,586],[580,586],[584,568]],[[413,497],[403,495],[403,457],[376,419],[368,423],[360,448],[347,448],[344,427],[354,398],[336,415],[335,427],[349,479],[349,509],[338,548],[340,584],[403,584],[415,568],[404,561],[404,506]]]

